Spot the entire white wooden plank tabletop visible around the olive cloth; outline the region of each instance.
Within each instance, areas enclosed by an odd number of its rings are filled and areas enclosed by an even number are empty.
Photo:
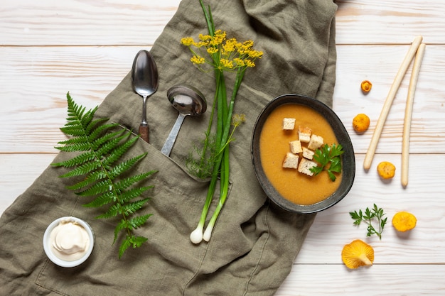
[[[69,90],[79,104],[102,102],[149,49],[180,0],[1,0],[0,213],[31,185],[58,152]],[[445,1],[337,1],[337,80],[334,111],[348,128],[356,153],[350,193],[319,213],[293,269],[277,295],[445,295]],[[383,128],[372,167],[363,159],[372,131],[404,55],[415,36],[427,48],[412,114],[409,184],[400,183],[402,129],[411,66]],[[360,82],[373,84],[368,95]],[[358,113],[370,130],[353,131]],[[383,182],[376,165],[388,160],[395,177]],[[377,204],[388,220],[405,210],[417,227],[382,240],[365,237],[348,212]],[[348,270],[345,243],[363,239],[374,265]],[[230,294],[227,294],[230,295]]]

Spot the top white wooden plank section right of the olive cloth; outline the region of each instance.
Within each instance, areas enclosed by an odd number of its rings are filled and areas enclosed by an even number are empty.
[[[441,0],[336,1],[338,44],[408,44],[423,35],[428,44],[445,43],[445,2]]]

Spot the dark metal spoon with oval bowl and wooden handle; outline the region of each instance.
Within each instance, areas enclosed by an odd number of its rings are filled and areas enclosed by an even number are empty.
[[[149,143],[149,124],[146,121],[146,99],[158,89],[158,68],[147,50],[139,50],[133,61],[132,84],[136,94],[142,96],[142,121],[139,126],[141,138]]]

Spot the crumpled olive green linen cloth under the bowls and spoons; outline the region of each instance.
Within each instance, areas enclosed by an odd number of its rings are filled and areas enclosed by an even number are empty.
[[[208,182],[188,175],[184,160],[203,138],[210,111],[186,118],[170,158],[159,151],[178,116],[166,98],[169,87],[191,84],[208,99],[209,110],[213,103],[213,72],[197,70],[180,44],[182,37],[207,32],[203,11],[198,0],[183,0],[151,48],[159,89],[147,103],[150,143],[139,139],[128,155],[148,152],[134,173],[159,171],[146,181],[155,187],[146,192],[151,201],[141,210],[153,216],[137,230],[149,241],[119,260],[119,243],[112,245],[117,221],[94,219],[102,209],[82,207],[88,201],[65,189],[73,180],[58,178],[63,169],[48,166],[1,216],[0,295],[263,296],[274,295],[282,284],[314,215],[291,214],[268,202],[252,168],[252,129],[262,108],[281,94],[304,94],[332,105],[337,6],[329,0],[205,4],[210,4],[217,28],[240,41],[252,39],[264,51],[257,66],[247,70],[237,96],[235,113],[245,114],[247,121],[230,144],[230,194],[210,241],[194,245],[189,240]],[[230,90],[233,78],[227,77]],[[75,89],[71,91],[76,99]],[[129,75],[104,99],[97,116],[137,131],[141,97],[132,91]],[[70,157],[60,153],[54,161]],[[215,198],[210,214],[217,202]],[[77,216],[95,231],[92,256],[75,268],[58,267],[43,251],[45,228],[60,216]]]

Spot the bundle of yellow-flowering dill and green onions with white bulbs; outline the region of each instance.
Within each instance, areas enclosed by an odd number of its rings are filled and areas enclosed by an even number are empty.
[[[205,132],[205,140],[203,141],[203,149],[200,150],[198,160],[188,160],[189,163],[192,163],[193,171],[197,172],[198,176],[205,177],[203,174],[208,172],[208,177],[211,177],[198,226],[192,231],[190,236],[193,243],[200,243],[203,239],[205,241],[210,240],[215,222],[227,199],[230,172],[229,143],[233,141],[232,136],[235,128],[245,121],[244,114],[232,115],[235,98],[238,89],[240,89],[245,71],[247,68],[254,67],[255,60],[260,59],[263,55],[262,51],[254,50],[254,42],[252,40],[238,42],[236,38],[227,38],[225,31],[215,30],[210,6],[208,9],[205,9],[203,0],[200,0],[200,5],[207,22],[208,35],[200,34],[198,35],[198,40],[194,40],[192,37],[185,37],[181,39],[181,44],[188,47],[191,51],[192,57],[190,61],[193,65],[204,72],[212,70],[215,72],[216,89],[212,114],[210,115],[208,128]],[[236,73],[235,84],[228,101],[227,89],[225,87],[225,72]],[[210,132],[213,130],[214,116],[216,118],[215,135]],[[207,218],[210,202],[213,199],[218,180],[220,180],[220,200],[207,228],[203,232],[205,219]]]

